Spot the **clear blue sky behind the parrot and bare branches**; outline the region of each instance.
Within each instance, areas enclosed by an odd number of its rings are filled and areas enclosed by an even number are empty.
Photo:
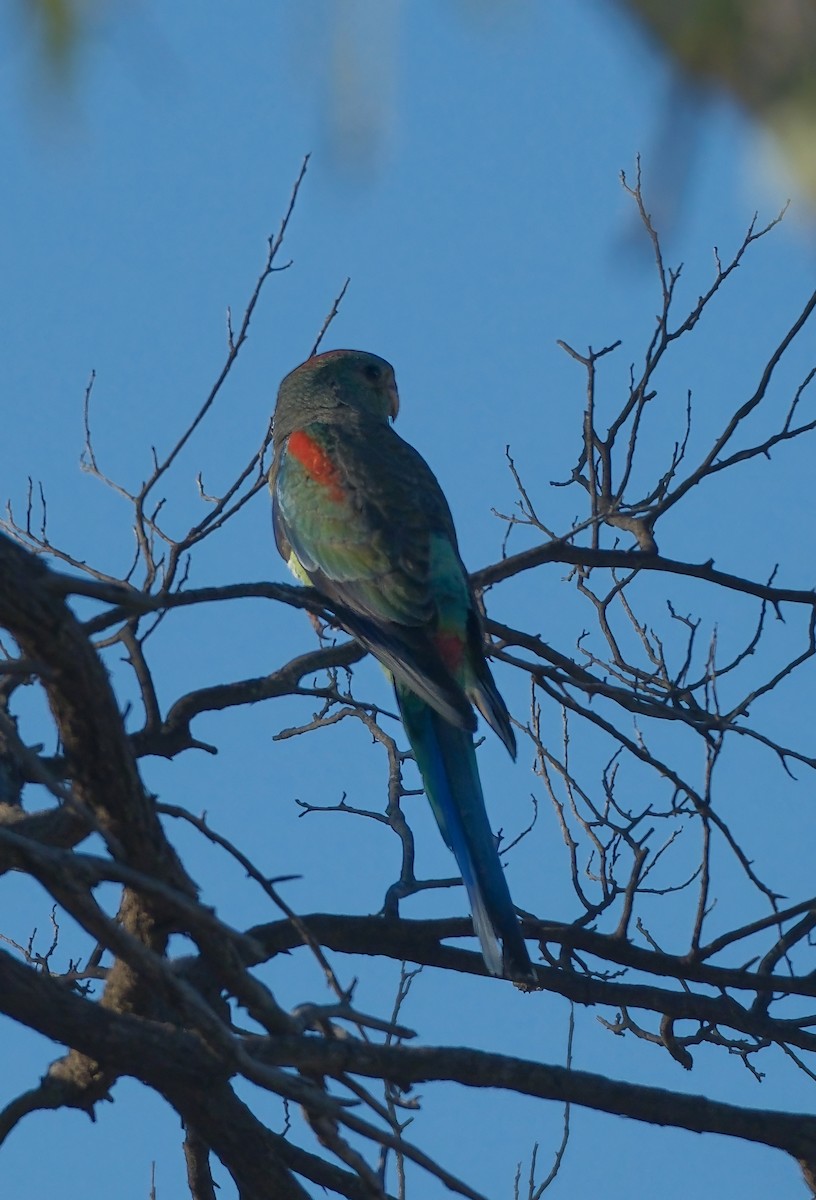
[[[613,406],[659,300],[618,174],[634,174],[642,154],[648,194],[654,164],[673,151],[661,149],[659,137],[672,95],[666,68],[607,5],[520,0],[502,6],[499,17],[487,5],[452,0],[349,0],[342,8],[328,0],[247,0],[239,13],[192,0],[145,0],[127,12],[113,6],[92,28],[70,94],[49,92],[34,48],[8,14],[0,19],[0,463],[2,497],[16,511],[24,509],[28,476],[43,480],[52,539],[114,574],[124,569],[131,553],[127,505],[79,470],[90,373],[100,463],[137,486],[150,469],[150,446],[169,449],[217,376],[226,310],[242,311],[265,239],[311,152],[283,254],[293,265],[269,282],[218,406],[168,481],[170,524],[181,529],[200,516],[198,470],[217,493],[244,466],[264,432],[278,380],[308,353],[347,276],[350,288],[325,344],[364,347],[394,362],[400,430],[445,488],[466,562],[476,568],[499,556],[503,526],[491,510],[508,511],[515,499],[505,444],[547,520],[556,528],[569,523],[578,498],[547,484],[565,478],[575,462],[584,382],[556,340],[578,348],[623,340],[602,377],[604,400]],[[341,104],[353,134],[337,128]],[[790,192],[790,184],[768,174],[761,139],[725,101],[704,109],[695,137],[665,242],[670,260],[685,263],[686,305],[708,286],[712,247],[724,257],[733,252],[752,212],[770,218]],[[706,444],[707,432],[749,394],[811,287],[812,238],[794,200],[791,218],[731,281],[710,324],[695,330],[661,373],[667,402],[647,432],[655,456],[680,432],[676,397],[688,386],[695,392],[695,438]],[[796,350],[786,382],[809,365],[805,350]],[[792,449],[785,462],[790,469],[774,476],[773,492],[755,464],[736,498],[718,491],[719,484],[690,498],[684,514],[666,521],[661,550],[677,558],[714,557],[724,569],[760,577],[780,559],[788,564],[784,582],[811,586],[810,504],[797,486],[810,457]],[[510,548],[523,544],[520,535]],[[265,498],[258,497],[202,547],[191,582],[283,574]],[[550,568],[496,589],[491,612],[571,653],[588,613],[565,575]],[[694,588],[678,584],[678,594],[689,608],[704,604]],[[734,601],[721,638],[737,643],[746,620]],[[312,634],[300,613],[247,604],[217,619],[187,613],[168,622],[157,642],[167,702],[191,686],[271,671],[311,647]],[[116,678],[126,696],[126,677]],[[360,694],[365,689],[390,707],[376,666],[365,664],[355,678]],[[523,713],[523,689],[514,695],[506,672],[499,682]],[[810,695],[787,694],[790,740],[798,733],[806,744]],[[248,844],[270,875],[302,876],[288,893],[299,910],[376,911],[396,872],[396,845],[353,818],[300,820],[294,798],[328,803],[347,791],[350,802],[376,806],[384,798],[385,764],[350,722],[272,742],[278,730],[310,715],[305,702],[204,718],[196,732],[218,744],[220,756],[146,763],[148,782],[168,803],[205,809],[238,841],[251,830]],[[769,712],[768,721],[774,719]],[[34,706],[31,722],[34,730]],[[545,724],[557,739],[558,714],[545,714]],[[589,767],[592,748],[586,754]],[[512,767],[498,744],[486,743],[480,762],[496,823],[522,828],[529,793],[540,792],[529,754]],[[791,838],[802,838],[794,830],[806,818],[806,781],[790,790],[775,764],[754,751],[728,768],[739,800],[733,818],[756,816],[770,798],[774,820],[762,852],[769,870],[790,869],[798,883],[810,859],[788,859]],[[421,799],[412,821],[421,874],[450,874]],[[176,828],[173,836],[226,919],[274,919],[240,872],[199,839]],[[548,811],[535,845],[524,844],[514,857],[510,880],[520,905],[558,919],[574,916]],[[47,926],[49,906],[32,887],[8,877],[0,887],[4,932],[24,942],[32,923]],[[734,902],[725,894],[724,913],[731,916]],[[463,901],[448,894],[418,898],[410,913],[460,910]],[[364,1010],[386,1010],[394,967],[340,967],[347,979],[361,974]],[[287,1004],[322,995],[318,973],[305,961],[274,967],[269,982]],[[404,1015],[427,1043],[461,1039],[541,1061],[564,1057],[568,1010],[546,994],[508,996],[485,982],[426,976]],[[760,1085],[736,1060],[701,1050],[686,1076],[655,1048],[604,1032],[595,1015],[578,1014],[578,1067],[743,1104],[812,1106],[802,1076],[776,1060],[775,1074],[768,1064]],[[0,1054],[5,1103],[14,1088],[34,1086],[54,1048],[35,1037],[10,1044],[6,1032]],[[72,1180],[76,1190],[65,1194],[92,1200],[110,1194],[108,1172],[115,1171],[119,1200],[142,1200],[152,1160],[160,1200],[184,1194],[174,1116],[132,1081],[120,1082],[115,1098],[96,1127],[62,1114],[32,1117],[16,1130],[2,1151],[10,1194],[24,1190],[40,1200]],[[280,1123],[280,1114],[270,1112]],[[511,1194],[516,1163],[527,1162],[533,1142],[540,1144],[546,1174],[560,1122],[556,1105],[427,1088],[413,1134],[498,1196]],[[670,1170],[680,1156],[682,1170]],[[781,1156],[590,1112],[574,1114],[572,1150],[552,1194],[602,1189],[619,1200],[644,1189],[664,1200],[714,1196],[722,1194],[718,1180],[725,1172],[731,1194],[802,1195],[797,1171]],[[216,1177],[221,1195],[232,1196],[217,1166]],[[420,1182],[414,1194],[434,1196],[434,1187]]]

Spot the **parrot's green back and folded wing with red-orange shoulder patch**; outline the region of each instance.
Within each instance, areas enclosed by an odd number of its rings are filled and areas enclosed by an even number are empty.
[[[432,636],[443,605],[469,604],[452,520],[431,469],[386,426],[293,433],[272,467],[275,538],[295,575],[348,631],[460,728],[475,716]],[[440,554],[440,547],[448,547]],[[445,578],[432,571],[444,560]],[[448,578],[450,576],[450,578]],[[445,590],[448,589],[448,590]]]

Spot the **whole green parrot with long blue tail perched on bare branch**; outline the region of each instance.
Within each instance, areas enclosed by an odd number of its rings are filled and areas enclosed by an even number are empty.
[[[364,350],[317,354],[286,377],[269,475],[275,540],[298,578],[334,600],[348,631],[390,671],[487,970],[530,980],[485,811],[473,706],[514,758],[516,738],[485,660],[445,497],[391,428],[398,403],[394,368]]]

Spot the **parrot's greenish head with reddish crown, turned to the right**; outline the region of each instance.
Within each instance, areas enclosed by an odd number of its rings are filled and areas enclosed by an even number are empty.
[[[290,371],[277,394],[275,425],[286,434],[331,410],[358,409],[382,421],[400,409],[394,367],[367,350],[328,350]]]

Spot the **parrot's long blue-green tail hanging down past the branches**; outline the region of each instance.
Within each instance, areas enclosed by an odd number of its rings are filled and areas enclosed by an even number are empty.
[[[529,980],[533,965],[487,821],[473,736],[400,683],[395,690],[425,793],[462,872],[487,970]]]

